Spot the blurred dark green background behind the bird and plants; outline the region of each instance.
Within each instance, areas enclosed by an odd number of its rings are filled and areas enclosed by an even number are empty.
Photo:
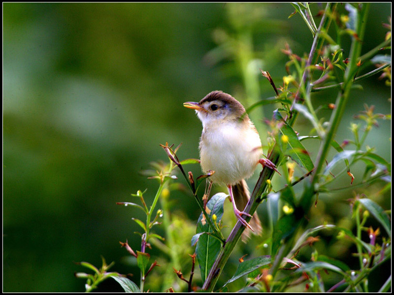
[[[260,54],[250,62],[255,75],[263,68],[282,84],[280,49],[287,42],[302,56],[312,42],[300,17],[288,19],[293,11],[287,3],[3,3],[3,291],[82,292],[74,272],[85,269],[73,262],[100,266],[100,255],[139,280],[119,245],[128,239],[138,250],[131,217],[139,212],[116,202],[145,188],[152,200],[158,184],[140,172],[167,161],[159,144],[182,142],[179,158],[198,157],[201,125],[184,101],[218,89],[248,105],[239,66],[218,47],[224,32],[248,29]],[[371,5],[363,52],[384,40],[390,13],[391,3]],[[377,78],[354,90],[338,142],[351,138],[363,103],[390,112],[391,89]],[[273,96],[265,78],[259,84],[261,98]],[[334,102],[329,94],[316,104]],[[380,123],[367,143],[391,161],[391,122]],[[300,118],[298,131],[309,129]],[[386,209],[387,197],[377,200]],[[197,220],[191,196],[171,198]],[[322,198],[321,210],[336,208]],[[122,291],[115,281],[99,290]]]

